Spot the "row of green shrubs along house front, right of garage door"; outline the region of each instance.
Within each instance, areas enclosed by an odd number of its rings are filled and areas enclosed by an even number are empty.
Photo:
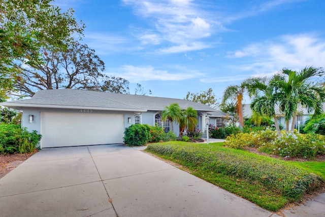
[[[166,133],[163,128],[148,124],[132,124],[125,128],[123,137],[128,146],[143,146],[148,142],[173,141],[176,138],[172,131]]]

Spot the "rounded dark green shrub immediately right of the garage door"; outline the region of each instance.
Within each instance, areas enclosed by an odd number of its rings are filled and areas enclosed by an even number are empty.
[[[143,124],[132,124],[125,128],[123,141],[128,146],[143,146],[149,141],[149,136],[150,131],[147,126]]]

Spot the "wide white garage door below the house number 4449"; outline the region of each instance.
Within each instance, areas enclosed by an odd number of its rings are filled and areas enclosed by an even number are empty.
[[[41,113],[41,148],[123,142],[123,115]]]

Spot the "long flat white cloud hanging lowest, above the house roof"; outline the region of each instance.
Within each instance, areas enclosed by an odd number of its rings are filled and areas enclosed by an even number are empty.
[[[130,82],[137,83],[143,81],[183,81],[193,78],[199,78],[203,74],[195,70],[189,70],[180,66],[167,69],[158,69],[151,65],[134,66],[124,65],[120,68],[109,69],[114,71],[119,77],[127,79]],[[107,72],[106,74],[110,74]]]

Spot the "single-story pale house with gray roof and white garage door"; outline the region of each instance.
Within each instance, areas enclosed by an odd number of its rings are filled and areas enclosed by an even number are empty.
[[[40,147],[50,148],[122,143],[124,130],[131,124],[157,124],[169,131],[171,123],[161,120],[161,111],[171,103],[182,109],[193,107],[202,131],[207,113],[217,112],[184,99],[73,89],[42,90],[30,99],[0,104],[22,111],[22,127],[38,131],[42,134]],[[179,126],[173,124],[178,135]]]

